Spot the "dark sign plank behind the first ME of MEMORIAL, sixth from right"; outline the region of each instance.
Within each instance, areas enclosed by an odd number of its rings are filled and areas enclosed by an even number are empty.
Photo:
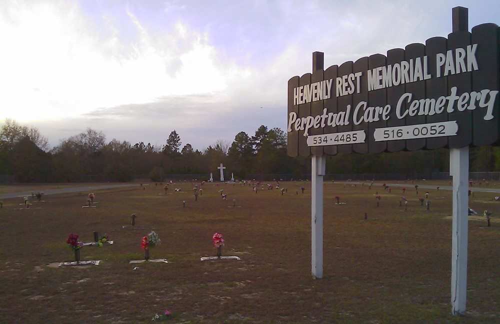
[[[386,57],[382,54],[373,54],[368,57],[368,69],[372,70],[376,67],[385,66]],[[381,107],[382,109],[387,104],[387,89],[385,87],[381,89],[368,91],[368,104],[369,107]],[[376,111],[374,109],[374,111]],[[368,123],[368,133],[367,142],[368,142],[368,151],[370,153],[380,153],[383,152],[387,148],[387,142],[375,141],[373,133],[375,128],[386,127],[387,122],[383,120],[382,115],[372,114],[375,121]],[[376,120],[378,119],[378,120]]]

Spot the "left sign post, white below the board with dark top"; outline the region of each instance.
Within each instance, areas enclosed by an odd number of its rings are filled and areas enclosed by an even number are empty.
[[[323,53],[312,53],[312,73],[323,69]],[[311,273],[313,278],[323,277],[323,175],[326,156],[311,158]]]

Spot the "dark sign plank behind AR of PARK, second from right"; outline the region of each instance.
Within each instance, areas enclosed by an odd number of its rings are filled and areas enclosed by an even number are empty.
[[[452,50],[453,53],[455,52],[455,48],[466,48],[469,44],[470,32],[468,31],[455,31],[448,34],[448,50]],[[465,64],[465,68],[466,67]],[[470,92],[472,88],[471,76],[472,72],[460,72],[448,75],[448,95],[451,93],[451,88],[453,86],[456,86],[457,96],[463,92]],[[457,101],[458,100],[455,100],[453,103],[453,112],[448,113],[448,119],[456,120],[458,124],[456,135],[448,137],[449,148],[459,148],[472,143],[472,111],[466,108],[463,111],[458,111]]]

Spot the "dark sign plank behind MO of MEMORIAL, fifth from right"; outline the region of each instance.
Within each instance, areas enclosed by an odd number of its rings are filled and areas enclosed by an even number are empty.
[[[387,51],[387,65],[393,65],[404,60],[404,49],[393,48]],[[396,105],[397,101],[404,93],[404,84],[392,85],[387,88],[387,104],[390,104],[389,119],[387,120],[387,127],[404,126],[404,118],[397,118]],[[406,105],[403,104],[403,108]],[[404,139],[388,140],[387,151],[397,152],[403,150],[406,146]]]

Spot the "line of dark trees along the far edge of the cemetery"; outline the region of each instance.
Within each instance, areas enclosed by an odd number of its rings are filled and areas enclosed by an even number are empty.
[[[255,174],[292,174],[299,179],[310,173],[310,158],[286,154],[286,133],[280,128],[259,126],[254,134],[238,132],[232,142],[217,140],[202,151],[182,145],[172,130],[161,147],[131,144],[116,138],[106,141],[102,131],[87,128],[49,148],[37,128],[5,119],[0,130],[0,174],[15,175],[18,182],[77,182],[98,175],[100,181],[130,181],[147,175],[162,181],[169,174],[218,174],[224,163],[235,178]],[[447,172],[447,149],[381,154],[328,156],[327,173]],[[482,146],[470,150],[470,171],[500,170],[500,149]],[[216,179],[217,177],[214,176]]]

